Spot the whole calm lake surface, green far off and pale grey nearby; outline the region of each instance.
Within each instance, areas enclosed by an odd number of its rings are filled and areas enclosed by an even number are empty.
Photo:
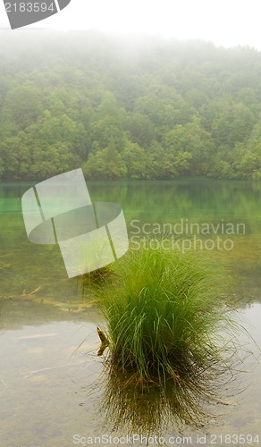
[[[103,317],[91,294],[82,297],[79,283],[67,278],[59,247],[27,239],[21,196],[30,186],[0,184],[0,445],[88,445],[103,434],[103,443],[122,434],[128,445],[131,404],[128,416],[126,399],[120,431],[117,402],[105,398],[105,366],[96,355]],[[150,444],[158,434],[167,445],[241,445],[239,434],[248,445],[258,445],[257,435],[261,443],[261,182],[89,182],[88,190],[93,201],[122,205],[134,245],[144,233],[158,239],[168,233],[180,248],[202,249],[231,278],[238,317],[252,337],[239,335],[244,349],[231,404],[206,403],[215,417],[205,426],[178,427],[171,417],[162,429],[151,424]],[[148,414],[153,417],[148,407],[142,395],[144,435]]]

